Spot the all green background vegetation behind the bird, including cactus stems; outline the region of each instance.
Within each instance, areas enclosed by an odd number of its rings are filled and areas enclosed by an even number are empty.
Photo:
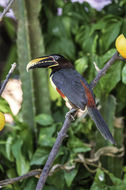
[[[60,15],[58,8],[62,9]],[[23,175],[45,164],[67,111],[65,103],[50,87],[47,70],[26,73],[27,63],[37,56],[59,53],[72,60],[91,82],[97,74],[92,63],[102,68],[116,51],[116,37],[126,33],[125,0],[112,1],[100,12],[87,3],[62,0],[17,0],[13,10],[16,20],[6,17],[0,25],[0,79],[5,78],[16,61],[18,68],[13,77],[22,81],[23,103],[19,114],[14,116],[8,103],[0,98],[0,111],[10,113],[14,119],[12,124],[6,124],[0,136],[0,180]],[[125,189],[125,84],[126,66],[118,61],[94,89],[120,154],[102,156],[90,165],[85,163],[85,157],[97,158],[95,152],[110,144],[88,116],[77,119],[54,162],[62,167],[48,178],[45,190]],[[3,189],[34,190],[36,183],[37,178],[33,177]]]

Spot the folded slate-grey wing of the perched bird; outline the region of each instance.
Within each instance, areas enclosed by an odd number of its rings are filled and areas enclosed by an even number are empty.
[[[72,104],[84,110],[87,98],[78,74],[73,69],[61,69],[53,74],[52,81]]]

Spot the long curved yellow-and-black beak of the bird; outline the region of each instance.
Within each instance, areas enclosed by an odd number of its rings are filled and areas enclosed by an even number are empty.
[[[26,67],[27,72],[34,68],[46,68],[58,66],[58,62],[52,56],[44,56],[31,60]]]

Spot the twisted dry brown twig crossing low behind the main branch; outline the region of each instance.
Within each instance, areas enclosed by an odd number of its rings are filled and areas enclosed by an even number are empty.
[[[91,145],[88,144],[88,146],[91,146]],[[117,148],[117,147],[113,147],[113,146],[112,147],[110,147],[110,146],[102,147],[93,154],[92,158],[85,158],[84,155],[78,154],[77,155],[78,158],[73,160],[73,163],[74,163],[73,165],[71,165],[69,162],[65,163],[64,165],[61,165],[61,164],[54,165],[51,168],[49,175],[51,176],[53,173],[59,171],[59,169],[69,172],[75,168],[76,163],[82,163],[89,172],[94,173],[94,172],[96,172],[96,169],[98,167],[100,167],[99,160],[100,160],[101,156],[122,157],[123,155],[124,155],[124,147],[121,147],[121,148]],[[94,166],[96,169],[91,169],[89,166]],[[32,170],[32,171],[28,172],[27,174],[24,174],[20,177],[2,180],[2,181],[0,181],[0,188],[10,185],[10,184],[13,184],[17,181],[27,179],[32,176],[35,176],[38,178],[39,175],[41,174],[41,172],[42,172],[41,169],[36,169],[36,170]]]

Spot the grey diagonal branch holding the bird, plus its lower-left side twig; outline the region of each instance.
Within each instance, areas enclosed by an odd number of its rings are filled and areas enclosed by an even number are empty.
[[[103,67],[103,69],[101,69],[97,76],[95,77],[95,79],[91,82],[91,87],[94,88],[96,86],[96,84],[98,83],[98,81],[100,80],[100,78],[102,76],[105,75],[105,73],[107,72],[107,70],[109,69],[109,67],[116,61],[116,60],[122,60],[122,61],[125,61],[125,59],[123,59],[122,57],[119,56],[118,52],[116,52],[112,58],[105,64],[105,66]],[[76,113],[74,113],[76,114]],[[25,179],[25,178],[28,178],[28,177],[31,177],[31,176],[35,176],[35,175],[40,175],[40,179],[38,181],[38,184],[37,184],[37,187],[36,187],[36,190],[42,190],[43,187],[44,187],[44,184],[45,184],[45,181],[49,175],[49,171],[50,171],[50,168],[53,164],[53,161],[59,151],[59,148],[62,144],[62,141],[63,139],[66,137],[66,133],[67,133],[67,130],[71,124],[71,121],[72,121],[72,117],[71,117],[71,114],[67,114],[67,117],[64,121],[64,124],[60,130],[60,132],[58,133],[58,137],[56,139],[56,142],[55,144],[53,145],[53,148],[49,154],[49,157],[47,159],[47,162],[41,172],[41,170],[33,170],[23,176],[20,176],[20,177],[16,177],[16,178],[12,178],[12,179],[7,179],[7,180],[2,180],[0,181],[0,187],[2,186],[6,186],[8,184],[12,184],[16,181],[19,181],[19,180],[22,180],[22,179]]]

